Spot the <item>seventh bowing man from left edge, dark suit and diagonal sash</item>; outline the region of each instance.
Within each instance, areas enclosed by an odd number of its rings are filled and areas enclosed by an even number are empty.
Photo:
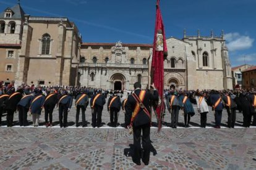
[[[85,92],[80,91],[75,99],[75,106],[77,107],[77,115],[75,117],[75,126],[79,127],[79,115],[80,109],[82,110],[82,127],[87,126],[85,123],[85,110],[88,106],[88,95]]]

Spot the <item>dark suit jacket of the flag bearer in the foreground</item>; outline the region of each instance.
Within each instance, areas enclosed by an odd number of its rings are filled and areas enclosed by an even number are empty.
[[[136,89],[135,90],[135,94],[139,97],[141,89]],[[146,92],[144,100],[143,100],[143,105],[145,105],[145,107],[147,108],[147,110],[149,111],[150,108],[150,103],[151,102],[155,102],[158,100],[158,92],[157,91],[153,91],[153,94],[151,94],[150,92]],[[128,99],[127,99],[127,113],[126,113],[126,126],[128,126],[130,124],[130,119],[132,118],[132,112],[135,109],[136,106],[136,100],[134,99],[134,97],[132,95],[129,95]],[[134,119],[134,126],[140,126],[143,124],[148,124],[150,123],[150,118],[148,118],[148,116],[146,115],[146,113],[144,113],[144,111],[142,110],[142,108],[140,108],[138,115],[136,116],[136,118]]]

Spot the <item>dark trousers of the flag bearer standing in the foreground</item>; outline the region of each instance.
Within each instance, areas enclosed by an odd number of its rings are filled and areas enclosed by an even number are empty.
[[[142,126],[133,126],[134,131],[134,155],[132,155],[132,160],[135,163],[140,163],[142,159],[143,163],[148,163],[150,160],[150,124],[143,124]],[[142,133],[142,147],[140,137]]]

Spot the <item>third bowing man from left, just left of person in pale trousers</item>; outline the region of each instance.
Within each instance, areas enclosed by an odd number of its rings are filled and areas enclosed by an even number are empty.
[[[18,110],[19,110],[19,123],[20,126],[27,126],[27,116],[28,116],[28,110],[30,108],[30,103],[32,102],[33,95],[30,94],[29,91],[25,91],[25,94],[20,102],[18,103]]]

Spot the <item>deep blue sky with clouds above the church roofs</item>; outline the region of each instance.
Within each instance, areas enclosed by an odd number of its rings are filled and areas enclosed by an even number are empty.
[[[75,22],[83,42],[152,44],[156,0],[20,0],[32,16],[68,17]],[[0,0],[0,11],[17,0]],[[255,0],[161,0],[166,37],[220,36],[224,30],[232,66],[256,65]]]

